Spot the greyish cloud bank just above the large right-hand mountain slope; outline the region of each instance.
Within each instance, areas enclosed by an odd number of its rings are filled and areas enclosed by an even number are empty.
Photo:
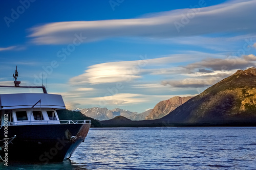
[[[184,79],[179,80],[164,80],[162,85],[170,85],[180,88],[200,88],[209,87],[222,79],[232,75],[237,69],[247,69],[248,67],[256,66],[256,56],[244,55],[236,58],[208,58],[200,62],[195,62],[182,66],[188,71]]]

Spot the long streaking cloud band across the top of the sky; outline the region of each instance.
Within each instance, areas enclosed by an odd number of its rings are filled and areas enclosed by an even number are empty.
[[[180,9],[135,19],[54,22],[31,28],[29,37],[37,44],[61,44],[72,43],[77,33],[87,37],[84,42],[110,37],[168,38],[225,32],[255,34],[255,7],[256,1],[241,0],[199,8],[194,13],[191,9]],[[188,14],[194,17],[183,23]],[[184,27],[177,29],[175,23]]]

